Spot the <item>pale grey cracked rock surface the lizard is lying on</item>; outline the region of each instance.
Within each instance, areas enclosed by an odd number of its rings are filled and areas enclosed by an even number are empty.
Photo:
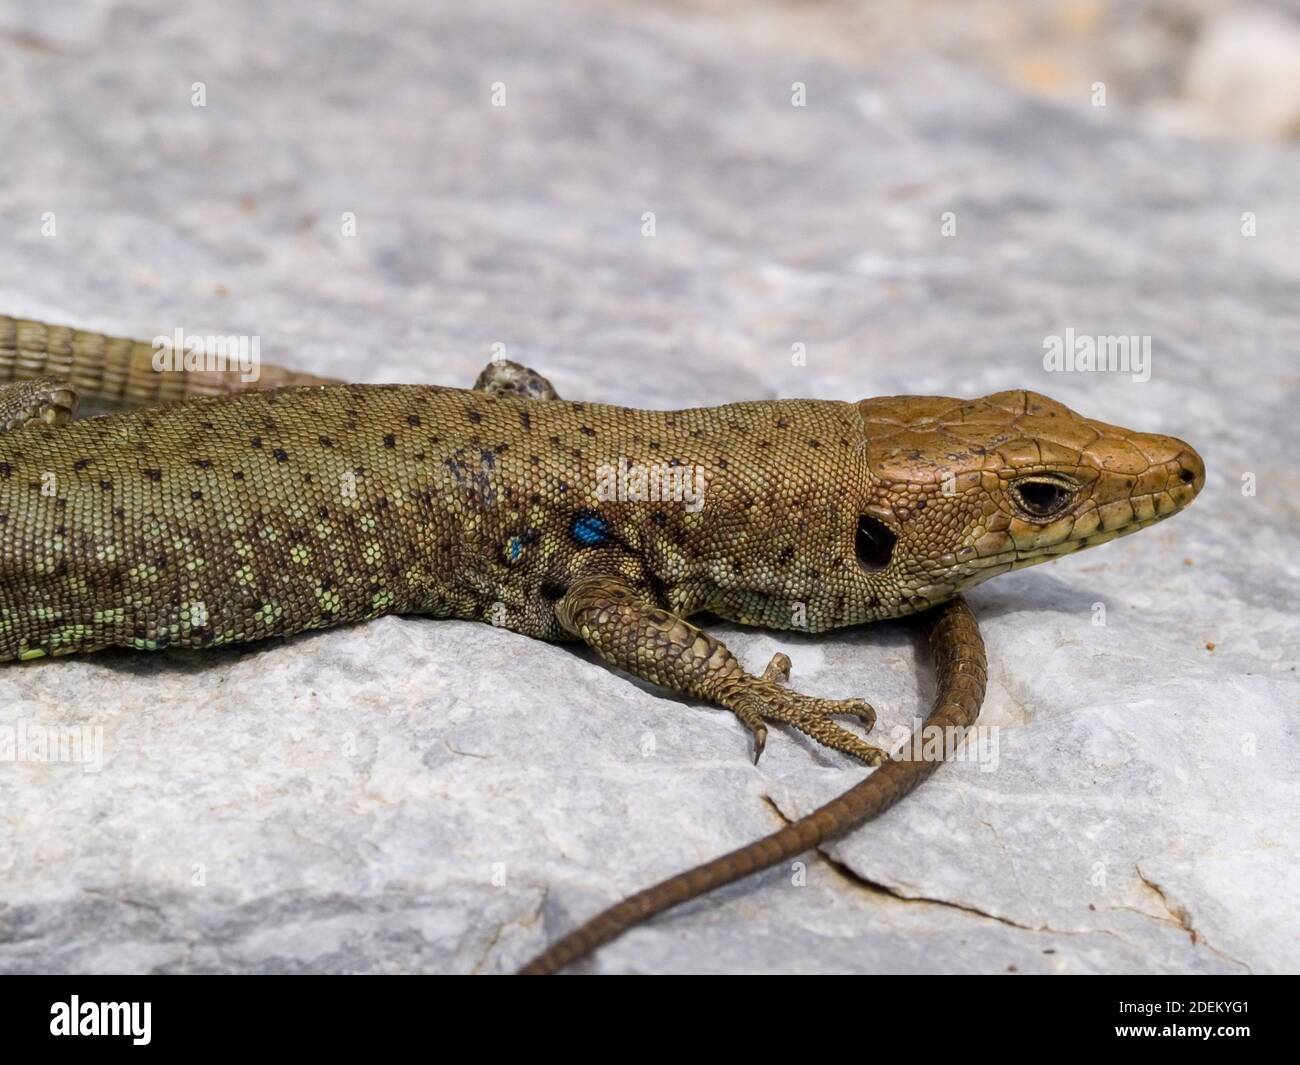
[[[1032,388],[1188,438],[1188,514],[972,596],[996,767],[590,967],[1300,969],[1296,146],[741,16],[468,7],[4,9],[0,312],[372,381],[502,343],[641,406]],[[1152,337],[1150,380],[1045,372],[1066,328]],[[930,692],[905,625],[718,631],[881,730]],[[30,748],[73,727],[96,766]],[[754,767],[729,714],[425,619],[0,668],[0,730],[3,971],[499,973],[862,774],[780,730]]]

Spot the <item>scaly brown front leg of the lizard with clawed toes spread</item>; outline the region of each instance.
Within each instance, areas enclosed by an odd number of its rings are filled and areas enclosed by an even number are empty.
[[[852,717],[870,730],[876,719],[870,703],[783,688],[790,668],[784,654],[774,655],[762,676],[746,674],[720,640],[642,598],[619,577],[580,577],[556,603],[556,618],[567,632],[629,674],[731,710],[754,733],[755,762],[767,741],[764,722],[784,722],[868,766],[888,758],[832,720]]]

